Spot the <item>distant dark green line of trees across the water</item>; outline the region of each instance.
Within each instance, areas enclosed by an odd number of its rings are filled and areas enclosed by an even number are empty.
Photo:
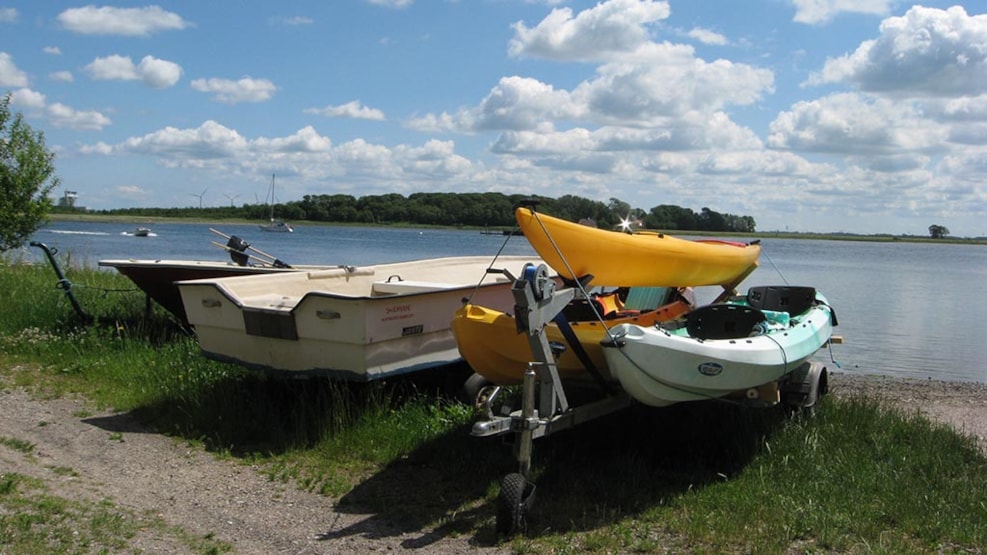
[[[504,195],[502,193],[414,193],[405,197],[397,193],[386,195],[305,195],[301,201],[276,204],[275,217],[289,221],[311,221],[347,224],[409,224],[452,227],[494,227],[512,229],[515,226],[514,206],[520,201],[539,201],[538,210],[570,221],[591,219],[598,227],[613,229],[622,220],[640,222],[640,227],[683,231],[755,231],[754,218],[721,214],[709,208],[695,212],[670,204],[655,206],[648,211],[632,208],[616,198],[610,202],[589,200],[574,195],[553,199],[532,195]],[[56,206],[53,212],[66,213],[72,209]],[[209,218],[209,219],[269,219],[270,206],[244,204],[242,206],[207,208],[122,208],[94,210],[93,214]]]

